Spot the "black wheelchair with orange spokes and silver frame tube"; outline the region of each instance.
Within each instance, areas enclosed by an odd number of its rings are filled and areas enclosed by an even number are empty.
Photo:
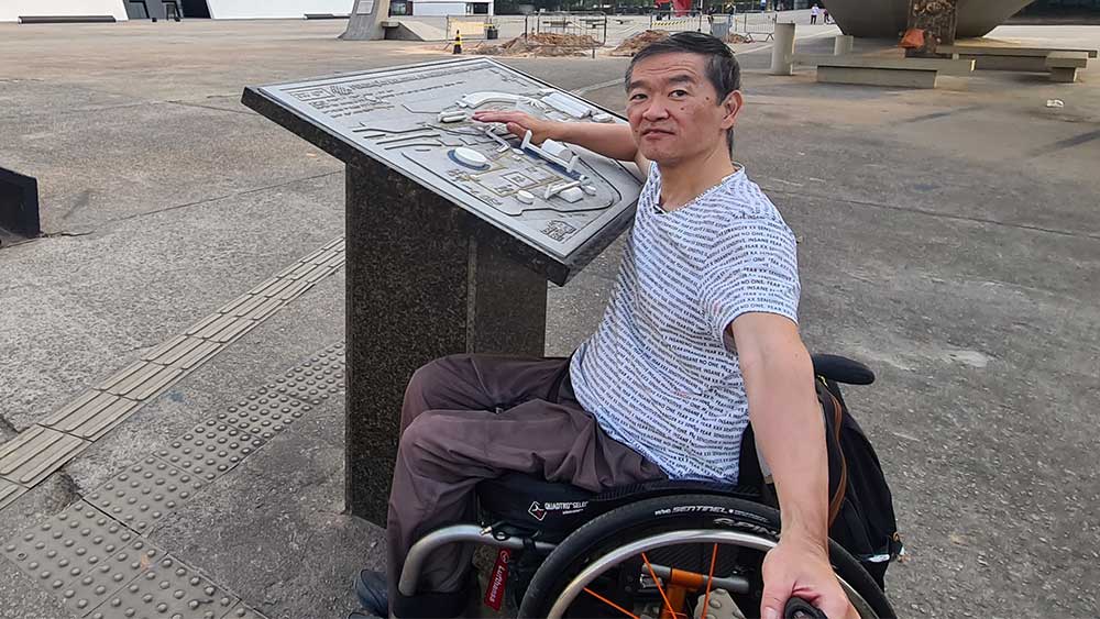
[[[833,355],[815,355],[814,371],[836,383],[873,380],[866,366]],[[509,473],[476,493],[477,522],[437,529],[413,545],[402,594],[416,594],[435,550],[466,543],[506,550],[488,587],[524,618],[744,619],[759,611],[763,556],[780,531],[766,484],[660,480],[593,494]],[[875,578],[832,540],[829,559],[861,618],[895,616]]]

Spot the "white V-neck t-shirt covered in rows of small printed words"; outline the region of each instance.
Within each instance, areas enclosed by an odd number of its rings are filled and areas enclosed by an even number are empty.
[[[735,482],[748,398],[727,327],[746,312],[798,321],[794,234],[744,167],[659,208],[654,164],[603,321],[576,350],[576,399],[672,478]]]

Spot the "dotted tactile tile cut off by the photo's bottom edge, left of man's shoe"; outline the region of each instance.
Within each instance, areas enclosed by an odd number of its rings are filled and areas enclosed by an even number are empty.
[[[241,599],[195,568],[164,556],[91,611],[91,619],[176,617],[219,619]]]

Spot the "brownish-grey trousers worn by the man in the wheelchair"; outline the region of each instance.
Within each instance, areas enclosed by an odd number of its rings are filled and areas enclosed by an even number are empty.
[[[664,478],[660,468],[609,438],[573,396],[568,360],[453,355],[414,375],[386,529],[391,604],[409,548],[433,529],[473,522],[474,486],[517,471],[587,490]],[[435,552],[421,592],[460,592],[473,548]]]

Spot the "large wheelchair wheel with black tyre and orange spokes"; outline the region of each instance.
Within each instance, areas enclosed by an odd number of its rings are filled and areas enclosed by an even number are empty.
[[[604,513],[547,556],[519,617],[756,617],[763,556],[779,512],[727,496],[658,497]],[[829,542],[829,560],[860,617],[894,612],[859,563]],[[730,604],[733,603],[733,604]],[[732,610],[733,608],[733,610]]]

